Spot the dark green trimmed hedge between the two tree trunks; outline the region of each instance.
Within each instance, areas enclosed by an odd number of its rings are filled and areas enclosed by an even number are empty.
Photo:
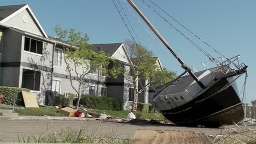
[[[92,95],[82,95],[80,99],[80,105],[84,105],[86,108],[96,110],[123,110],[123,101],[121,100]]]

